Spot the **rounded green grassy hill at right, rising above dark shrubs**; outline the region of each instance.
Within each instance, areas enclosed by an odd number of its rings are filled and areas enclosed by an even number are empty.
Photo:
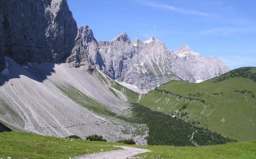
[[[139,104],[239,141],[253,141],[255,95],[256,68],[250,67],[201,83],[171,81],[143,95]]]

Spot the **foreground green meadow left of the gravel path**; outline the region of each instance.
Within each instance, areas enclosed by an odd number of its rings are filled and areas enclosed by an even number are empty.
[[[88,153],[119,149],[114,142],[91,142],[25,132],[0,133],[0,158],[67,159]]]

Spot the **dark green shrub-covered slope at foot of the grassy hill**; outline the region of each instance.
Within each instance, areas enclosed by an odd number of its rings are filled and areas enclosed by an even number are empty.
[[[181,119],[151,111],[140,104],[134,104],[132,112],[134,122],[144,123],[149,127],[149,136],[146,138],[149,145],[195,146],[234,141]]]

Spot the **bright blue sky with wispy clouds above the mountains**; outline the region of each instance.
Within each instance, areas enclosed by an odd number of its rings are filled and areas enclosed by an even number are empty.
[[[188,44],[230,69],[256,66],[255,0],[67,0],[78,26],[98,41],[125,31],[131,40],[151,36],[175,51]]]

